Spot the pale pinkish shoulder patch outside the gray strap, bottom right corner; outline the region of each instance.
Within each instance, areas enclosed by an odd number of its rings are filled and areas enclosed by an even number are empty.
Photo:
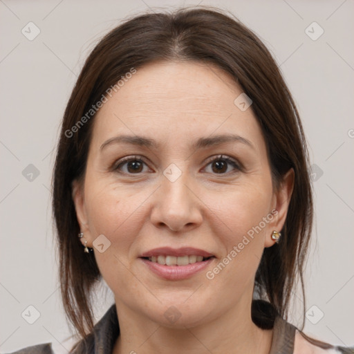
[[[328,343],[312,339],[296,329],[293,354],[354,354],[354,346],[332,346]]]

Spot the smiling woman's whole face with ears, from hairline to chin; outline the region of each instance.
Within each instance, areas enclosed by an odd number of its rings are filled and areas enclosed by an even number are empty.
[[[214,66],[158,62],[139,68],[97,113],[73,198],[118,315],[165,326],[240,309],[249,316],[292,174],[273,189],[252,106],[234,104],[241,93]]]

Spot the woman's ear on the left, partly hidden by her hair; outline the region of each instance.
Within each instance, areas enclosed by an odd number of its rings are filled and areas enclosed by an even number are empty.
[[[75,205],[77,222],[80,225],[80,231],[84,234],[84,241],[87,241],[87,246],[91,247],[92,237],[91,237],[90,230],[88,228],[84,186],[78,180],[74,180],[71,186],[72,186],[72,197]],[[82,243],[84,243],[84,241],[82,241]]]

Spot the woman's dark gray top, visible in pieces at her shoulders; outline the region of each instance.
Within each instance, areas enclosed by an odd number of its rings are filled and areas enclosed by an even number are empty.
[[[296,329],[281,317],[276,317],[270,354],[293,354]],[[84,353],[87,354],[111,354],[119,333],[117,311],[115,304],[113,304],[102,319],[97,322],[93,332],[80,342],[80,348],[84,348]],[[73,352],[73,354],[75,353],[78,351]],[[333,346],[330,350],[323,349],[323,353],[354,354],[354,347]],[[47,343],[30,346],[12,354],[54,354],[54,352],[51,344]]]

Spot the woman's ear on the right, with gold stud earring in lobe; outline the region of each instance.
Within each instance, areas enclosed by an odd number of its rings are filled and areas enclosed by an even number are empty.
[[[275,230],[281,232],[283,225],[286,221],[286,215],[288,214],[288,207],[292,196],[292,190],[294,189],[295,171],[289,169],[283,176],[279,189],[274,192],[273,195],[273,209],[277,210],[277,214],[274,214],[273,220],[270,222],[271,231]],[[269,235],[265,235],[264,247],[271,247],[274,245],[274,240]]]

